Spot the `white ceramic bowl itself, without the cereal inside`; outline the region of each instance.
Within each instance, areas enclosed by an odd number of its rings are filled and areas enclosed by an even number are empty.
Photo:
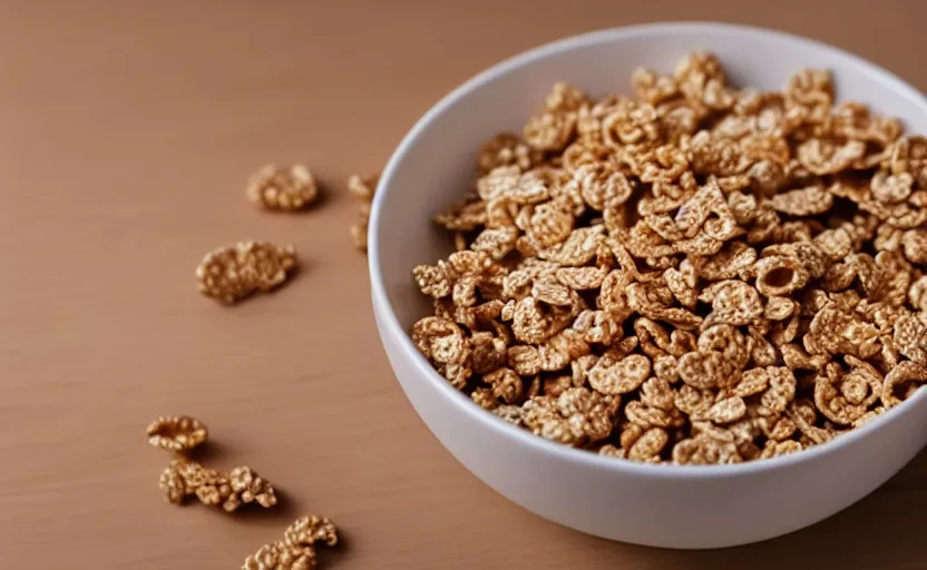
[[[716,53],[734,85],[781,89],[804,67],[833,71],[838,96],[927,132],[927,100],[836,48],[755,28],[662,23],[618,28],[528,51],[467,81],[412,128],[380,181],[370,224],[373,308],[409,401],[468,470],[511,501],[583,532],[667,548],[719,548],[798,530],[849,507],[927,443],[927,390],[869,425],[793,455],[736,465],[650,465],[548,442],[474,405],[416,351],[407,331],[429,304],[411,268],[450,252],[431,217],[474,181],[478,146],[518,130],[550,86],[625,91],[637,66],[670,71],[685,52]],[[866,521],[860,521],[866,523]],[[877,524],[871,521],[871,524]]]

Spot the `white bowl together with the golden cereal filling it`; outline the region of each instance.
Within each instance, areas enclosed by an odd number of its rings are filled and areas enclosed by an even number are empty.
[[[517,56],[383,171],[389,361],[448,451],[548,520],[684,549],[812,524],[927,443],[925,132],[902,80],[775,31]]]

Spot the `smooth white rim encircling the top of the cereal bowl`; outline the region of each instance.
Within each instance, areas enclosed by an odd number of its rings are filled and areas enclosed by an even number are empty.
[[[425,358],[425,356],[414,347],[408,332],[399,323],[396,311],[393,309],[389,296],[387,295],[387,288],[383,282],[380,265],[379,243],[380,212],[383,203],[386,202],[386,195],[389,193],[392,185],[399,164],[404,159],[409,149],[417,142],[419,137],[429,127],[432,120],[443,115],[448,109],[452,108],[460,100],[466,98],[471,91],[479,89],[518,68],[534,63],[557,52],[609,42],[617,39],[628,39],[652,35],[663,36],[683,31],[695,31],[716,36],[762,36],[771,40],[798,43],[807,49],[827,51],[831,56],[842,58],[847,60],[848,63],[857,66],[865,75],[869,76],[872,81],[887,83],[888,87],[902,97],[911,99],[925,114],[927,114],[927,98],[925,98],[920,91],[915,89],[907,81],[887,69],[884,69],[876,63],[872,63],[871,61],[868,61],[849,51],[822,41],[780,30],[754,26],[710,21],[671,21],[616,27],[565,37],[508,57],[462,82],[435,104],[425,115],[421,116],[421,118],[416,121],[412,128],[402,138],[401,142],[396,148],[383,168],[371,207],[370,232],[368,237],[368,266],[370,272],[373,308],[377,314],[378,327],[380,328],[379,334],[381,336],[391,335],[398,337],[398,347],[401,352],[401,357],[410,361],[426,382],[435,383],[442,396],[446,396],[447,400],[449,400],[450,405],[460,410],[460,412],[470,419],[470,421],[479,422],[489,431],[495,432],[497,436],[514,440],[516,444],[527,446],[535,453],[552,455],[553,458],[565,462],[580,463],[587,469],[614,472],[628,476],[646,476],[651,479],[666,480],[691,480],[706,478],[725,479],[785,470],[802,463],[817,461],[818,459],[836,453],[841,448],[846,448],[847,445],[851,445],[859,440],[868,438],[884,425],[898,420],[902,415],[914,413],[914,410],[918,407],[920,401],[927,399],[927,390],[918,390],[911,397],[880,414],[878,417],[861,428],[840,435],[832,441],[814,445],[813,448],[802,450],[798,453],[790,453],[764,460],[747,461],[742,463],[711,465],[650,464],[630,460],[616,461],[614,458],[602,456],[598,453],[589,452],[588,450],[575,449],[549,441],[545,438],[540,438],[524,429],[511,425],[495,414],[488,413],[486,410],[482,410],[474,404],[472,401],[462,392],[451,386],[443,377],[441,377]]]

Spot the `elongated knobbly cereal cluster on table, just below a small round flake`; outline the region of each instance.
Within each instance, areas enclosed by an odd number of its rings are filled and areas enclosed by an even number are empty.
[[[264,508],[276,504],[271,483],[247,466],[235,468],[226,474],[187,459],[175,459],[162,472],[158,487],[165,501],[172,504],[183,504],[193,495],[203,504],[222,505],[226,512],[236,511],[243,504],[257,503]]]

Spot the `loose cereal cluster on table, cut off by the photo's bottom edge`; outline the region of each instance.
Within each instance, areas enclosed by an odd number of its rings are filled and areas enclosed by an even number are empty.
[[[283,540],[247,557],[242,570],[309,570],[315,567],[316,543],[338,544],[338,529],[324,517],[303,517],[286,529]]]

